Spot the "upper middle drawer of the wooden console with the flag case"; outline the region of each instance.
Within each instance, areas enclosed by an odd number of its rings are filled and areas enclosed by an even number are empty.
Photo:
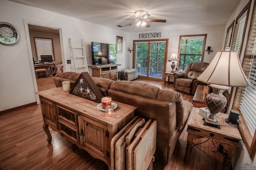
[[[58,119],[77,126],[76,112],[66,109],[59,105],[56,105],[56,106],[58,111]]]

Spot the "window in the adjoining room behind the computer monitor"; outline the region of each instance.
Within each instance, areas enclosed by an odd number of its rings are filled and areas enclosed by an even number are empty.
[[[52,55],[54,60],[52,39],[34,38],[36,45],[37,60],[41,60],[41,55]]]

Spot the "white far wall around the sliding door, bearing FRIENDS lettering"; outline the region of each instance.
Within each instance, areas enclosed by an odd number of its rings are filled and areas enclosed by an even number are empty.
[[[170,30],[158,30],[150,32],[162,32],[160,39],[169,39],[168,43],[168,57],[171,53],[178,53],[178,46],[180,35],[195,35],[195,34],[207,34],[206,38],[206,49],[210,46],[212,52],[208,54],[207,51],[204,53],[204,62],[210,63],[218,50],[222,50],[222,38],[224,36],[224,26],[225,25],[216,25],[209,27],[193,27],[193,28],[183,28],[183,29],[170,29]],[[132,47],[133,40],[139,40],[139,33],[130,33],[130,39],[128,46]],[[128,46],[126,49],[128,49]],[[132,67],[132,53],[129,53],[129,66]],[[166,62],[166,71],[171,71],[170,67],[171,62]]]

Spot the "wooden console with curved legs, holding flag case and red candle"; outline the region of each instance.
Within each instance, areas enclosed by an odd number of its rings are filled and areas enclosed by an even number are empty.
[[[118,107],[109,118],[97,109],[98,103],[64,92],[62,87],[36,94],[40,98],[47,142],[52,141],[50,126],[111,169],[111,139],[134,117],[136,107],[113,101]]]

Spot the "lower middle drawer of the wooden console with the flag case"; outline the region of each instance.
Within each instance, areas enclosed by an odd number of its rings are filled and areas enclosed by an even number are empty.
[[[60,133],[65,137],[67,137],[68,139],[76,143],[79,143],[78,130],[62,122],[61,120],[58,120],[58,122],[59,122]]]

